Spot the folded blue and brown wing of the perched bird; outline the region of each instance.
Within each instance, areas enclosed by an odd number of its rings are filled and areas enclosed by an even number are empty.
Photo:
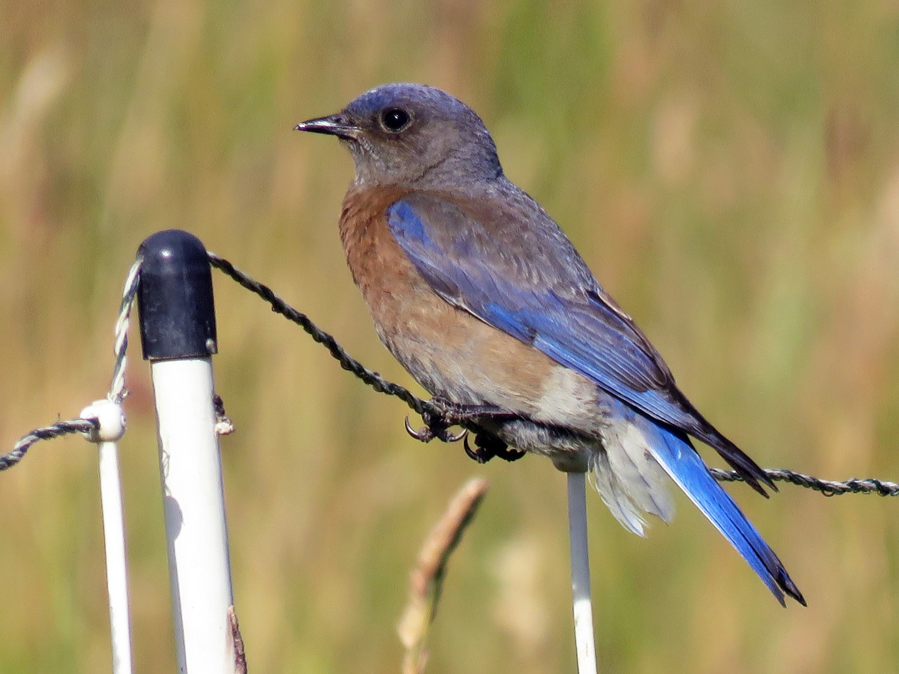
[[[760,481],[773,487],[681,394],[662,357],[552,218],[523,192],[511,196],[415,192],[387,209],[387,223],[415,269],[450,304],[707,442],[761,493]]]

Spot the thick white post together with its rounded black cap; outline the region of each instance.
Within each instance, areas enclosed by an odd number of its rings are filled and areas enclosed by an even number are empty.
[[[178,670],[234,672],[209,258],[199,239],[178,230],[148,237],[139,254],[140,333],[156,395]]]

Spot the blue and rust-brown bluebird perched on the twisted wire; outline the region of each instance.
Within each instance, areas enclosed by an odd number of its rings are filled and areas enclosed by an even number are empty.
[[[805,599],[709,473],[699,439],[756,491],[770,478],[674,384],[556,222],[503,174],[474,111],[386,84],[298,130],[339,137],[356,177],[340,235],[378,336],[467,425],[563,471],[592,471],[619,522],[672,519],[667,474],[785,605]]]

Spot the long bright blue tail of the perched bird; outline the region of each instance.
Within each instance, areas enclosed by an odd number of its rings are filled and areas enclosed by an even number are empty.
[[[781,605],[786,606],[784,592],[806,606],[806,599],[790,579],[783,563],[765,543],[752,523],[746,519],[730,494],[717,483],[690,439],[680,431],[670,430],[637,414],[634,420],[646,440],[653,457],[677,483],[690,501],[711,520],[718,531],[734,545],[736,551],[752,566]]]

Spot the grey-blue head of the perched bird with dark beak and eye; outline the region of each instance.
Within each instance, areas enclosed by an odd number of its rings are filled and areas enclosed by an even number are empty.
[[[341,138],[357,182],[439,187],[503,175],[494,140],[475,111],[424,84],[384,84],[296,129]]]

